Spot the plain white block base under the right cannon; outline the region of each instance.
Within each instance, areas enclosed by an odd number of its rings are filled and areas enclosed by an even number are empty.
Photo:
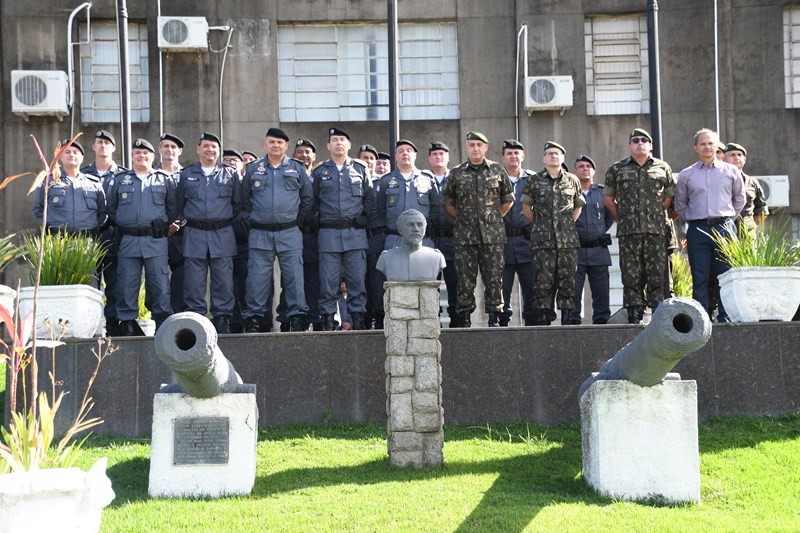
[[[700,502],[695,381],[596,381],[580,408],[583,476],[598,493]]]

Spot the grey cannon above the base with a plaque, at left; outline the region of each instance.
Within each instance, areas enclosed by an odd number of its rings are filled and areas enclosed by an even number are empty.
[[[195,398],[213,398],[236,392],[242,378],[217,345],[211,321],[197,313],[177,313],[158,328],[156,357],[175,376],[175,385],[162,392],[185,392]],[[177,385],[177,390],[176,390]]]

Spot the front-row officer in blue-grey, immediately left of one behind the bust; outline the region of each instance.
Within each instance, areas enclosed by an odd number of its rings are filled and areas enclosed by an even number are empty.
[[[314,211],[319,217],[320,312],[326,331],[336,329],[340,272],[347,282],[347,307],[353,329],[364,329],[367,295],[366,214],[374,201],[369,170],[348,156],[350,135],[340,128],[328,130],[330,159],[312,172]]]

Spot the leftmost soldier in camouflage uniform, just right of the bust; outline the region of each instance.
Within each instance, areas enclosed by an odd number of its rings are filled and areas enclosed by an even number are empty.
[[[467,133],[467,161],[450,171],[444,189],[444,209],[453,219],[455,263],[458,275],[459,327],[472,326],[478,270],[484,284],[489,326],[499,325],[503,307],[503,216],[514,203],[514,189],[503,165],[486,159],[489,140]]]

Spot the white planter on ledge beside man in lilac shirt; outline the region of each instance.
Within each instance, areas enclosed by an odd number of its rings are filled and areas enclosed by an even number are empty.
[[[737,267],[719,276],[733,322],[792,319],[800,305],[800,267]]]

